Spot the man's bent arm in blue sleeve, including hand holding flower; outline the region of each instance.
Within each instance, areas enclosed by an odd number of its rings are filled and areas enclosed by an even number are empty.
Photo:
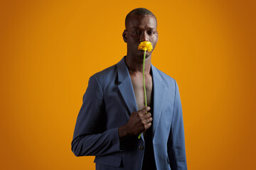
[[[82,107],[75,125],[71,149],[75,156],[100,156],[120,152],[120,139],[139,135],[150,128],[152,118],[150,108],[131,113],[126,125],[105,130],[106,118],[103,93],[96,77],[90,77],[83,96]],[[146,113],[147,112],[147,113]]]

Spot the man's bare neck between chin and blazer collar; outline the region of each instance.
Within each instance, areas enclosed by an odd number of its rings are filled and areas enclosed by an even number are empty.
[[[132,57],[127,55],[125,57],[125,62],[129,69],[129,73],[142,73],[143,72],[143,58]],[[151,69],[151,55],[145,59],[145,74],[149,74]]]

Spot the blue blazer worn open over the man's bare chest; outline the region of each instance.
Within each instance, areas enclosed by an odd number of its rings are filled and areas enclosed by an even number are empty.
[[[187,169],[183,116],[178,85],[151,64],[154,88],[153,146],[156,168]],[[138,111],[124,57],[89,79],[75,125],[75,156],[95,156],[97,170],[140,170],[144,137],[120,141],[118,128]]]

